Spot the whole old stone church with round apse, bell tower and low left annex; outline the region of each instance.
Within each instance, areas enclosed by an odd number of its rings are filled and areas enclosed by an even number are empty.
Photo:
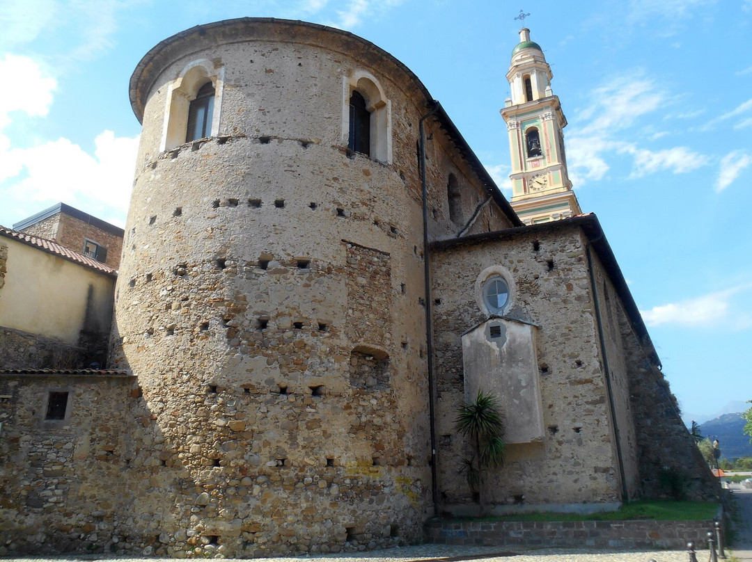
[[[476,509],[453,419],[478,388],[508,421],[496,511],[604,509],[661,470],[713,497],[528,36],[509,77],[531,226],[362,38],[244,18],[150,50],[108,370],[0,371],[2,553],[420,540]]]

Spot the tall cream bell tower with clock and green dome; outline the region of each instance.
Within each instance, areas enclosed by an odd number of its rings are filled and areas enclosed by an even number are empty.
[[[581,213],[566,169],[566,117],[551,90],[551,68],[541,46],[520,29],[507,80],[511,98],[501,110],[511,152],[511,205],[526,225]]]

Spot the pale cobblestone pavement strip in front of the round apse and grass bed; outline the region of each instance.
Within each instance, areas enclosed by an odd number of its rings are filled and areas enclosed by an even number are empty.
[[[482,562],[687,562],[687,551],[604,551],[573,548],[514,548],[502,551],[498,546],[472,547],[451,545],[418,545],[369,551],[359,554],[327,554],[316,557],[254,558],[253,562],[411,562],[412,560],[476,560]],[[704,561],[707,551],[699,551],[698,560]],[[71,557],[23,557],[0,560],[23,560],[23,562],[80,562],[81,560],[123,560],[123,562],[174,562],[169,558],[71,556]]]

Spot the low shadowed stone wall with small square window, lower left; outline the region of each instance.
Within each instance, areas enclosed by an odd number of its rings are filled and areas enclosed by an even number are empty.
[[[0,487],[14,491],[0,498],[0,554],[122,548],[141,478],[129,469],[131,387],[122,373],[0,374]],[[50,392],[68,393],[64,418],[48,418]]]

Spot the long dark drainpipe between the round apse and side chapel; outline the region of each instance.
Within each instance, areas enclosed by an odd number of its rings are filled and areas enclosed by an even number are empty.
[[[428,183],[426,181],[426,130],[423,121],[428,119],[440,108],[438,101],[432,101],[433,108],[418,121],[420,129],[420,186],[423,191],[423,283],[426,293],[426,354],[428,355],[428,408],[429,426],[431,433],[431,494],[434,515],[438,513],[438,484],[436,467],[436,421],[434,413],[434,380],[433,380],[433,327],[431,319],[431,282],[430,282],[430,254],[428,249]]]

